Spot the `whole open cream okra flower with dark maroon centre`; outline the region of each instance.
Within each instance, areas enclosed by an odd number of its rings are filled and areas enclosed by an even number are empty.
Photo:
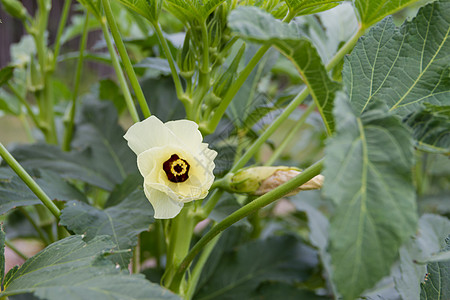
[[[137,155],[156,219],[173,218],[184,203],[206,197],[214,181],[217,152],[202,143],[195,122],[163,123],[151,116],[131,126],[124,138]]]

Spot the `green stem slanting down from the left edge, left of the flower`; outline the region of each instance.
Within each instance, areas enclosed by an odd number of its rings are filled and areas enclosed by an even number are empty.
[[[11,169],[25,182],[31,191],[42,201],[42,203],[50,210],[50,212],[59,220],[61,211],[53,203],[49,196],[42,190],[42,188],[31,178],[25,169],[17,162],[17,160],[9,153],[8,150],[0,143],[0,156],[6,161]]]

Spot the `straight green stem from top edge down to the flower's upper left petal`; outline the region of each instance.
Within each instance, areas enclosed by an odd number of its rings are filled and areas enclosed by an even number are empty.
[[[122,59],[122,63],[125,67],[125,72],[127,72],[128,79],[130,80],[131,86],[133,87],[134,93],[136,94],[136,98],[139,106],[141,107],[142,113],[144,114],[144,118],[148,118],[151,116],[150,108],[148,107],[144,93],[142,92],[141,85],[139,84],[136,73],[134,72],[134,68],[131,64],[130,57],[128,56],[127,49],[125,48],[122,38],[120,37],[119,28],[117,27],[117,23],[114,19],[109,0],[102,0],[102,4],[114,42],[116,43],[117,50],[119,51],[120,58]]]

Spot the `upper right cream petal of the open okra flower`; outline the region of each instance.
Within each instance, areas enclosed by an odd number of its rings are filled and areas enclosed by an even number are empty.
[[[169,121],[165,123],[165,125],[178,138],[180,144],[188,147],[190,151],[197,150],[202,143],[203,137],[195,122],[189,120],[177,120]]]

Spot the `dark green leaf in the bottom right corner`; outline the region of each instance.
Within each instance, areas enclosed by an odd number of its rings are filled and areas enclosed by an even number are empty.
[[[443,252],[450,252],[450,235],[446,238]],[[421,284],[420,300],[450,299],[450,259],[427,265],[425,282]]]

